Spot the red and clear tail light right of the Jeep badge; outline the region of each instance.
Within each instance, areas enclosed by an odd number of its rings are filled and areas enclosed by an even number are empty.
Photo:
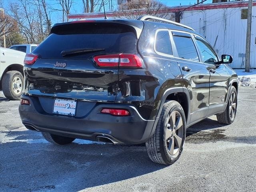
[[[110,54],[95,56],[94,61],[100,67],[142,68],[142,60],[137,54]]]

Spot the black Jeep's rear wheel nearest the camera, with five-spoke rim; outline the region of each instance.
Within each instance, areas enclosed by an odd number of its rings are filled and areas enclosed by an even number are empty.
[[[178,160],[186,138],[186,118],[182,106],[176,101],[164,104],[156,131],[146,142],[150,160],[170,165]]]

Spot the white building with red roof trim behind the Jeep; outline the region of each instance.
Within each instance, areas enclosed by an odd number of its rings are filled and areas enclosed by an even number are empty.
[[[186,9],[186,10],[184,10]],[[176,6],[166,11],[170,14],[182,12],[180,23],[188,25],[204,36],[219,55],[230,54],[232,68],[244,68],[248,2],[224,2],[197,6]],[[143,13],[143,9],[140,10]],[[109,19],[118,19],[124,12],[107,12]],[[104,13],[70,14],[70,20],[104,19]],[[256,0],[252,6],[252,31],[250,66],[256,68]]]

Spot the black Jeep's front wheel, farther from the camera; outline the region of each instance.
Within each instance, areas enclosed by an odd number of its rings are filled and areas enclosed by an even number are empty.
[[[236,117],[236,108],[237,108],[237,92],[234,86],[231,87],[231,93],[228,98],[228,105],[226,110],[221,113],[217,114],[217,120],[220,124],[232,124]]]

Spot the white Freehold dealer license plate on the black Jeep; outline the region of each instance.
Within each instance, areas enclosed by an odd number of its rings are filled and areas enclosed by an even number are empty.
[[[76,114],[76,101],[55,99],[53,113],[74,116]]]

